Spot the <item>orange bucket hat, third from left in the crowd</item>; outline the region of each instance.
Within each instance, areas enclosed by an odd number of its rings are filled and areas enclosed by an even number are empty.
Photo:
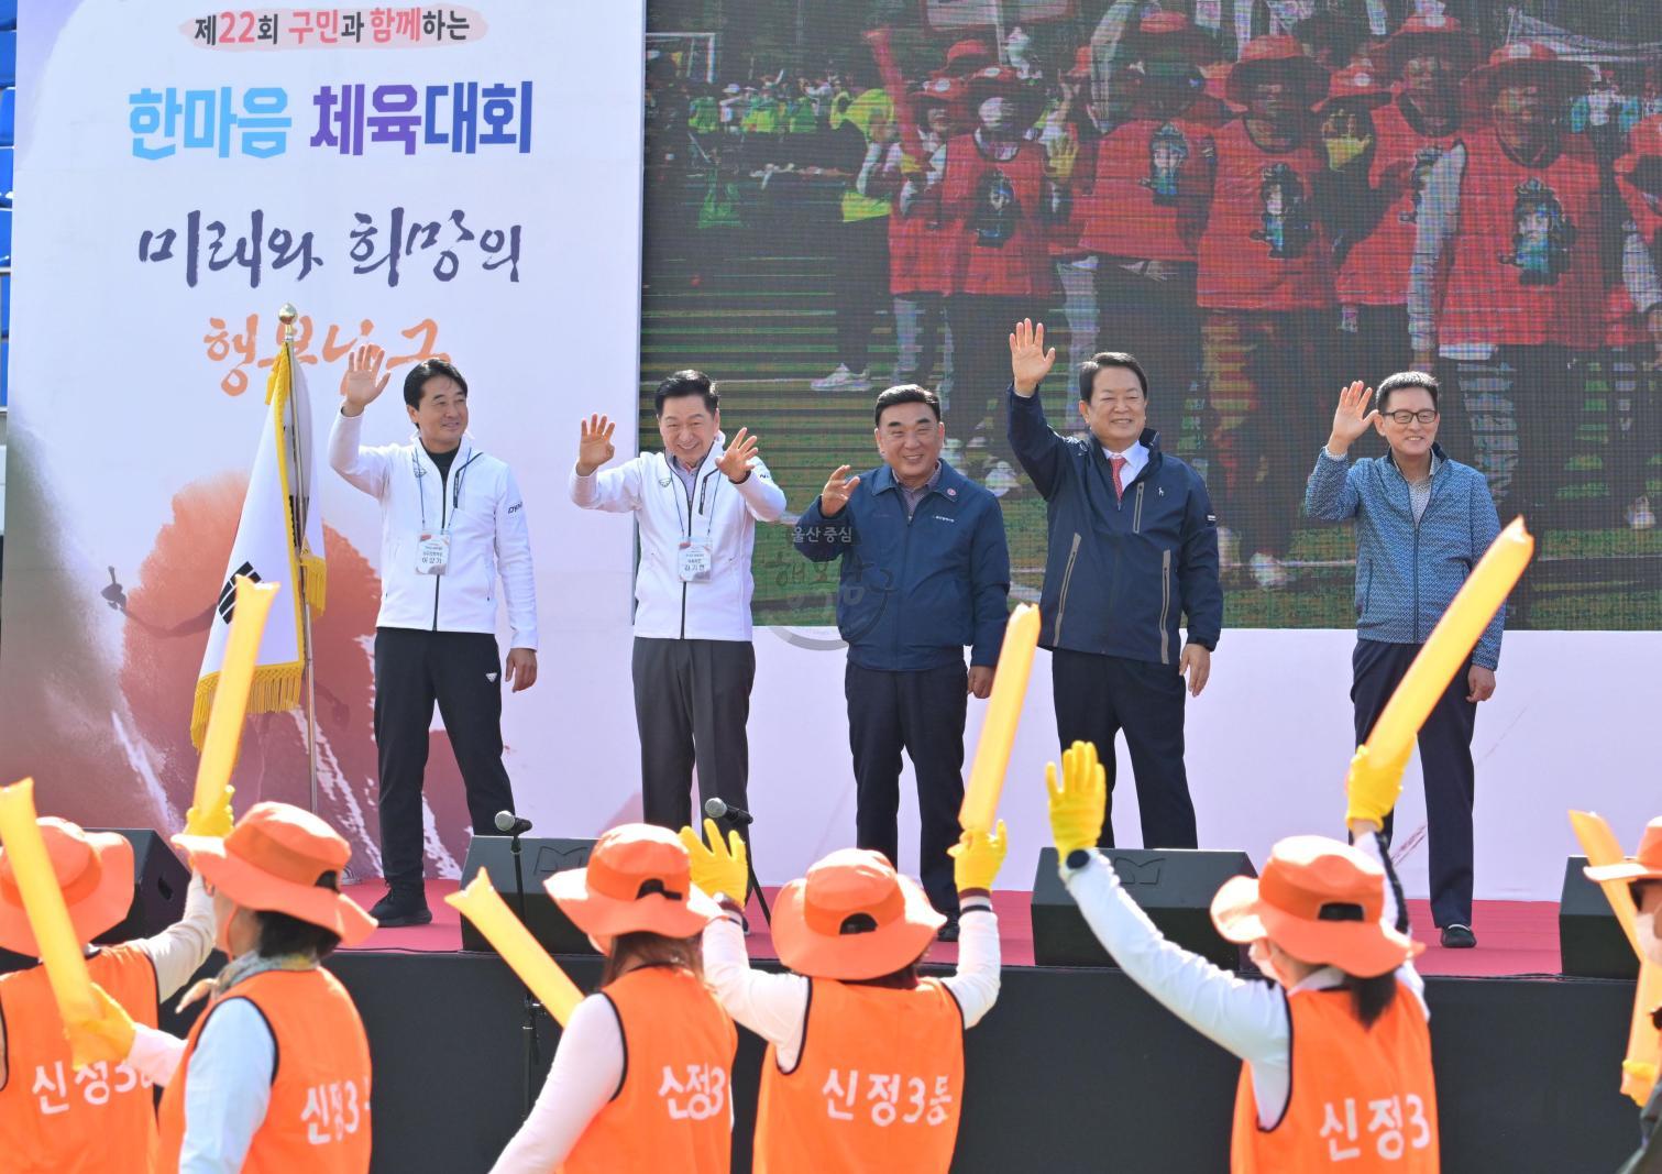
[[[612,828],[595,841],[587,868],[555,873],[543,886],[590,938],[691,938],[721,916],[721,906],[693,888],[691,860],[680,836],[650,823]]]

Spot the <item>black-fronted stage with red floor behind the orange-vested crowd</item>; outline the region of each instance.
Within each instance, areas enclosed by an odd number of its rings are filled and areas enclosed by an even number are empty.
[[[429,888],[432,926],[382,930],[331,961],[371,1034],[374,1167],[386,1174],[485,1171],[519,1121],[520,991],[494,954],[460,951],[455,913],[439,900],[450,888]],[[379,885],[357,896],[374,900]],[[997,895],[1002,993],[969,1033],[952,1169],[1227,1169],[1238,1063],[1119,971],[1032,966],[1025,901]],[[1413,911],[1429,926],[1423,906]],[[1549,903],[1479,901],[1479,950],[1424,954],[1451,1174],[1599,1174],[1637,1144],[1637,1107],[1615,1091],[1632,984],[1559,978],[1554,916]],[[753,956],[771,958],[755,905],[751,923]],[[937,946],[931,963],[954,953]],[[585,988],[598,974],[597,958],[560,961]],[[543,1063],[555,1038],[545,1026]],[[750,1169],[761,1056],[741,1033],[735,1171]]]

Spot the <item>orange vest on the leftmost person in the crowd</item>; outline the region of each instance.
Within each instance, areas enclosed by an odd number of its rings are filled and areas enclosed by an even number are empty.
[[[86,959],[98,986],[135,1023],[156,1026],[156,968],[135,945]],[[7,1174],[143,1174],[156,1137],[150,1081],[126,1064],[70,1068],[70,1044],[47,968],[0,974],[5,1088],[0,1169]]]

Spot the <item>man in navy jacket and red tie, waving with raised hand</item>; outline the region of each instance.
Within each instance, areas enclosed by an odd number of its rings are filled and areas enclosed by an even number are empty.
[[[1114,793],[1114,738],[1125,730],[1145,848],[1195,848],[1183,768],[1183,675],[1200,697],[1223,629],[1218,527],[1207,482],[1160,452],[1148,377],[1130,354],[1079,367],[1089,437],[1057,436],[1039,404],[1055,363],[1044,324],[1010,334],[1010,447],[1045,499],[1050,550],[1039,644],[1050,650],[1062,747],[1097,747]],[[1188,619],[1188,642],[1178,620]],[[1114,846],[1114,821],[1102,821]]]

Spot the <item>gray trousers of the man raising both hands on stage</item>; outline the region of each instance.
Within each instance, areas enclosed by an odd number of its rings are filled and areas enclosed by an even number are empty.
[[[756,649],[750,640],[653,640],[635,637],[635,725],[640,730],[642,818],[680,830],[695,823],[698,802],[720,798],[750,810],[750,687]],[[748,840],[748,835],[746,835]]]

